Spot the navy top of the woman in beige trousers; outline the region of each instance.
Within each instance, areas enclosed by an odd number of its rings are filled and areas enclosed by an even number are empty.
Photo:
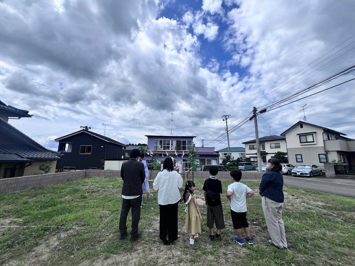
[[[261,178],[259,191],[261,196],[265,196],[275,202],[283,202],[283,177],[280,172],[267,171]]]

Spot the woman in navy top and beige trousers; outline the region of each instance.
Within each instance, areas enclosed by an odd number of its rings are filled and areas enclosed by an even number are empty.
[[[277,248],[287,248],[285,226],[282,220],[283,177],[280,173],[280,160],[276,158],[269,159],[266,170],[267,172],[261,179],[259,194],[262,196],[262,207],[271,237],[268,242]]]

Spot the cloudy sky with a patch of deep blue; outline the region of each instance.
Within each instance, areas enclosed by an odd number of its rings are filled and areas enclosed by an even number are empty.
[[[267,109],[260,137],[305,116],[355,138],[354,10],[353,0],[0,0],[0,100],[29,110],[9,123],[54,150],[80,126],[125,144],[192,135],[218,150],[223,115],[230,146],[243,146],[254,106]]]

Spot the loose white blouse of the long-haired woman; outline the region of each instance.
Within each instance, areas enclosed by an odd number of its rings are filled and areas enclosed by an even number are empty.
[[[174,204],[181,199],[179,188],[183,186],[183,178],[176,171],[164,169],[154,178],[153,189],[158,191],[159,205]]]

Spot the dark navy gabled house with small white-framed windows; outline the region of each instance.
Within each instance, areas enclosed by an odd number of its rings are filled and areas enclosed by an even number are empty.
[[[55,139],[59,142],[58,170],[103,169],[105,159],[123,159],[127,145],[89,131],[88,127]]]

